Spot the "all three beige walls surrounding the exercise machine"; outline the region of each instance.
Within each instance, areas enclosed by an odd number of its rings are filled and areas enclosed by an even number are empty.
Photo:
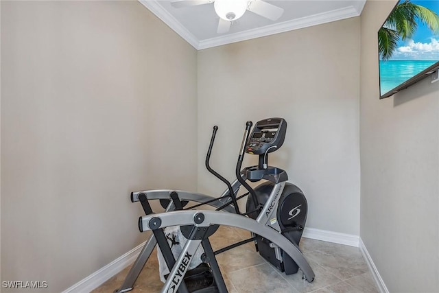
[[[145,239],[129,191],[219,194],[212,126],[233,180],[245,122],[279,116],[307,226],[360,234],[390,292],[439,288],[439,82],[378,99],[394,3],[197,53],[137,1],[1,1],[1,280],[87,277]]]

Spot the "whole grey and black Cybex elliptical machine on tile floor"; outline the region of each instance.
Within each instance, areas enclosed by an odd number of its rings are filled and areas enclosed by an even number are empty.
[[[200,293],[227,292],[215,255],[248,242],[254,242],[261,256],[285,274],[294,274],[300,268],[303,279],[308,282],[313,281],[315,277],[313,270],[298,248],[307,218],[307,201],[296,185],[286,183],[288,176],[285,170],[268,165],[268,154],[278,150],[283,145],[287,122],[282,118],[264,119],[257,122],[250,134],[251,126],[252,122],[248,121],[237,161],[237,179],[233,183],[229,183],[209,165],[217,126],[213,128],[206,156],[206,167],[228,187],[219,198],[167,189],[132,192],[132,202],[140,201],[146,214],[139,218],[139,230],[141,232],[152,231],[153,235],[147,240],[123,285],[115,292],[132,290],[156,244],[161,247],[162,252],[165,252],[170,271],[162,292],[176,292],[176,290],[189,292],[185,278],[182,277],[190,277],[191,275],[187,270],[187,262],[190,260],[185,259],[185,255],[193,255],[201,244],[206,252],[202,260],[209,263],[208,267],[204,267],[206,268],[204,272],[207,272],[208,277],[214,279],[214,282],[208,288],[198,288],[197,292]],[[259,164],[241,170],[245,153],[259,155]],[[266,180],[267,182],[252,189],[246,180],[251,182]],[[238,197],[237,193],[241,185],[249,192]],[[237,200],[246,197],[246,212],[241,213]],[[166,209],[165,213],[152,213],[150,200],[161,200],[162,206]],[[185,207],[188,202],[199,202],[199,204]],[[194,210],[204,204],[209,204],[217,209],[216,211]],[[229,213],[224,214],[224,211]],[[217,226],[221,224],[248,230],[252,232],[253,237],[213,251],[209,237],[217,231]],[[168,226],[180,226],[183,235],[187,238],[178,259],[172,255],[169,243],[163,233],[163,229]],[[184,268],[184,270],[180,270],[180,268]]]

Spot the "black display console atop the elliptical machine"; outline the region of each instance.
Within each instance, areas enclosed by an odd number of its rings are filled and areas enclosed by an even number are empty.
[[[287,121],[270,118],[258,121],[246,145],[248,154],[267,154],[281,148],[287,132]]]

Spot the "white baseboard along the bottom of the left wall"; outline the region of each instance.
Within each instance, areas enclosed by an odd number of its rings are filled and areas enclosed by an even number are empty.
[[[85,279],[82,279],[82,281],[75,283],[75,285],[71,286],[67,290],[64,290],[62,293],[81,293],[95,290],[105,281],[129,266],[137,258],[137,255],[139,255],[144,245],[145,242],[139,244],[135,248],[132,248],[132,250],[128,251],[128,253],[108,263],[108,265],[104,266],[104,268],[93,272],[93,274]],[[116,289],[117,288],[115,288],[115,290]]]

